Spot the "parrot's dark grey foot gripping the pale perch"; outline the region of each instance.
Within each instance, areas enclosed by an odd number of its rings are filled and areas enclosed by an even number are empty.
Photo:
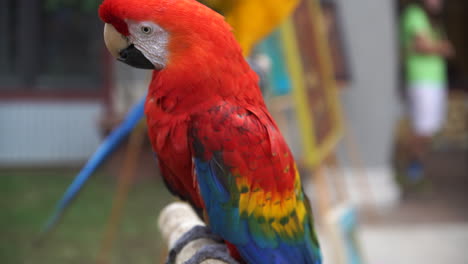
[[[192,258],[187,260],[184,264],[198,264],[207,259],[219,259],[229,264],[237,264],[230,255],[225,244],[222,244],[223,239],[213,233],[205,226],[195,226],[190,231],[185,233],[179,240],[177,240],[174,247],[169,252],[166,264],[174,264],[177,255],[182,249],[190,242],[200,238],[206,238],[215,241],[218,244],[211,244],[204,246]]]

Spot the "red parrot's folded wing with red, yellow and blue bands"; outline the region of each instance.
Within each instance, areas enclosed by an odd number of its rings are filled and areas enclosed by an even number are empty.
[[[299,174],[266,110],[218,105],[192,117],[189,137],[214,233],[248,263],[320,263]]]

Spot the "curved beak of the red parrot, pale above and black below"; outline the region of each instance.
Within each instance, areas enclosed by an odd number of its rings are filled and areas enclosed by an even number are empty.
[[[111,24],[104,25],[104,43],[117,60],[140,69],[155,69],[153,63]]]

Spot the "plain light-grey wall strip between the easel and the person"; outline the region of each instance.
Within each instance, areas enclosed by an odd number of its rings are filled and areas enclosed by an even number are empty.
[[[337,3],[352,73],[352,81],[342,93],[344,114],[357,142],[365,174],[353,168],[355,164],[345,151],[340,156],[351,174],[371,178],[370,188],[376,202],[392,204],[398,191],[389,162],[401,108],[397,97],[394,1],[337,0]],[[362,193],[358,183],[350,181],[352,196]]]

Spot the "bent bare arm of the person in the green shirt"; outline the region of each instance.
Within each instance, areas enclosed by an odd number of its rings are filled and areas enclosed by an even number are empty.
[[[452,44],[448,40],[431,40],[424,33],[415,35],[412,48],[418,53],[427,55],[440,55],[446,58],[454,55]]]

